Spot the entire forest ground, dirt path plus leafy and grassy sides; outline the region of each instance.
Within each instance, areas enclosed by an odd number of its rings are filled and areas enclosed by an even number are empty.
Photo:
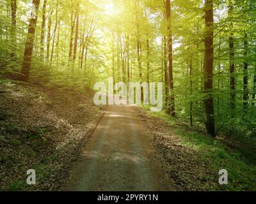
[[[164,113],[93,105],[93,91],[0,83],[2,191],[249,191],[250,156]],[[232,145],[231,145],[232,144]],[[253,154],[252,154],[253,153]],[[228,185],[218,183],[228,170]],[[36,185],[26,171],[36,170]]]

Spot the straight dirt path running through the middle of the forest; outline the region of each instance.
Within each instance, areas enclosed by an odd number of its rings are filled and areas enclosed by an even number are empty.
[[[156,149],[131,106],[108,106],[72,165],[67,191],[172,191]]]

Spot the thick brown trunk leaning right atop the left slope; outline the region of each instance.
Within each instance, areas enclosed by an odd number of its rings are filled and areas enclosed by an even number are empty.
[[[36,13],[35,15],[31,13],[31,18],[29,20],[29,26],[28,26],[28,35],[27,35],[25,51],[24,51],[24,60],[23,60],[22,69],[21,69],[22,76],[20,77],[20,80],[26,83],[28,83],[29,81],[29,71],[30,71],[31,57],[33,54],[33,47],[34,47],[34,41],[35,41],[37,12],[38,12],[39,4],[40,4],[40,0],[33,0],[33,5],[35,5]]]

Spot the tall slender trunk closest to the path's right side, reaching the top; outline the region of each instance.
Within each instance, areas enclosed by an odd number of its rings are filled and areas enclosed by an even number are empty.
[[[171,28],[171,5],[170,0],[166,0],[166,20],[167,20],[167,47],[168,47],[168,71],[169,71],[169,85],[170,85],[170,115],[175,117],[175,99],[173,95],[173,64],[172,64],[172,28]]]

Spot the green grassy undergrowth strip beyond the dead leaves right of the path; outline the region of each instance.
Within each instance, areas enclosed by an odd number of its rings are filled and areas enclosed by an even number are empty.
[[[179,139],[180,145],[195,150],[211,175],[215,174],[218,183],[218,172],[221,169],[228,171],[228,185],[208,185],[206,190],[225,191],[256,191],[256,141],[244,139],[243,135],[225,136],[220,132],[216,138],[209,137],[201,126],[190,127],[189,122],[182,118],[170,119],[167,113],[150,112],[149,106],[142,106],[143,110],[152,117],[157,117],[170,128],[170,136]],[[191,167],[193,168],[193,167]],[[180,172],[182,174],[182,172]],[[207,178],[205,182],[207,183]]]

